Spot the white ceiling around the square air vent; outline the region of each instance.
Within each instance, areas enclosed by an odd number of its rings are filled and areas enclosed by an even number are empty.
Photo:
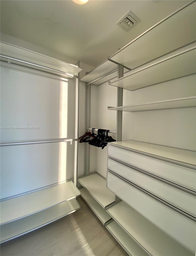
[[[96,66],[145,30],[192,1],[1,1],[1,32]],[[141,22],[129,32],[116,23],[131,10]]]

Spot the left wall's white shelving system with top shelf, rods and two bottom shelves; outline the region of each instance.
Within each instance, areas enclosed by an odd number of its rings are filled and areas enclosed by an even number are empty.
[[[1,61],[7,61],[10,65],[17,64],[33,69],[39,69],[60,77],[76,78],[76,88],[78,82],[77,75],[82,70],[77,65],[65,63],[40,53],[3,42],[1,42],[0,57]],[[76,113],[76,121],[77,116],[78,113]],[[1,144],[1,147],[20,147],[20,145],[28,145],[31,147],[31,144],[59,142],[70,142],[70,144],[72,144],[72,142],[75,143],[76,141],[77,139],[75,138],[57,138],[36,141],[30,140],[25,142],[5,142]],[[75,150],[76,148],[77,147],[75,147]],[[77,158],[74,158],[74,161],[76,166]],[[77,175],[75,174],[75,170],[76,169],[74,168],[73,176],[74,183],[76,184],[77,180],[75,177]],[[58,169],[56,171],[58,172]],[[25,170],[25,172],[28,171]],[[28,179],[28,175],[25,176],[25,178],[26,177]],[[80,205],[77,203],[76,197],[80,195],[80,191],[74,183],[71,180],[58,183],[57,181],[53,183],[50,181],[47,186],[44,185],[43,187],[38,187],[32,191],[26,191],[22,194],[18,193],[1,199],[0,242],[6,242],[10,239],[26,234],[78,210]],[[14,186],[17,188],[17,183],[14,182]]]

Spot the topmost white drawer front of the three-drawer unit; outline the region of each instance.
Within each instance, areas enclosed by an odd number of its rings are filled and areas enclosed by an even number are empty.
[[[183,187],[196,189],[196,171],[173,163],[107,145],[107,155]]]

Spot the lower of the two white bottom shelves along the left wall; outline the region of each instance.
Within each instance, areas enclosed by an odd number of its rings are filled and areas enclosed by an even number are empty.
[[[23,234],[29,233],[42,226],[45,226],[57,219],[60,219],[76,210],[80,205],[76,199],[60,203],[53,207],[40,211],[26,218],[16,220],[1,226],[1,242],[6,242]]]

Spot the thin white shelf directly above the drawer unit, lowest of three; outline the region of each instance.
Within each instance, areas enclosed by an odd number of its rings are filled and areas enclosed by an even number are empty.
[[[155,109],[167,109],[167,108],[186,108],[186,107],[195,107],[196,106],[196,96],[171,99],[171,100],[161,100],[154,102],[147,102],[136,105],[127,105],[122,107],[108,107],[109,110],[118,110],[118,111],[145,111],[145,110],[155,110]]]

